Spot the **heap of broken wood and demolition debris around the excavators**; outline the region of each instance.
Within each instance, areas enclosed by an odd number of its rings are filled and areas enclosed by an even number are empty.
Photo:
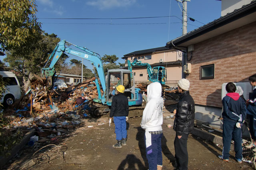
[[[36,76],[36,75],[35,75]],[[70,135],[70,130],[81,124],[84,118],[92,117],[90,108],[98,92],[94,82],[95,78],[86,80],[74,86],[65,86],[63,82],[57,82],[52,90],[47,88],[46,80],[36,76],[30,83],[30,88],[22,95],[20,100],[14,103],[15,109],[6,109],[4,114],[11,120],[10,130],[19,129],[24,134],[36,129],[36,136],[30,139],[29,147],[42,147],[47,144],[61,143],[62,136]],[[138,84],[146,96],[148,84]],[[169,87],[167,89],[170,89]],[[165,88],[163,88],[163,91]],[[102,90],[103,93],[103,90]],[[171,104],[177,103],[175,90],[164,92],[165,101]],[[168,106],[168,104],[165,106]],[[99,119],[86,124],[86,128],[95,128],[108,121]]]

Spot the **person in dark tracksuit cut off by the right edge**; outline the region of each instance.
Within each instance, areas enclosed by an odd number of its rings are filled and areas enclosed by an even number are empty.
[[[250,84],[256,86],[256,74],[249,77]],[[253,144],[256,146],[256,88],[254,88],[249,99],[246,101],[247,113],[249,114],[249,129],[252,136]],[[256,152],[256,149],[253,149]]]

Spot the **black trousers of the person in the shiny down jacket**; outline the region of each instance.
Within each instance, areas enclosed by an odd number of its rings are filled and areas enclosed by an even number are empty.
[[[188,134],[182,134],[179,139],[177,134],[174,140],[174,150],[176,158],[176,168],[178,170],[187,170],[188,169]]]

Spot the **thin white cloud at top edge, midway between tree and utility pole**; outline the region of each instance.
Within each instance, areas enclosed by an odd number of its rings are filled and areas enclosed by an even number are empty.
[[[94,0],[89,1],[86,4],[90,6],[96,6],[100,10],[115,8],[115,7],[126,7],[134,4],[136,0]]]

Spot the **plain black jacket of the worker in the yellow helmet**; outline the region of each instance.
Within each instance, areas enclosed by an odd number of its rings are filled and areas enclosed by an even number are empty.
[[[112,99],[110,118],[113,116],[128,116],[129,105],[128,98],[122,93],[118,93]]]

